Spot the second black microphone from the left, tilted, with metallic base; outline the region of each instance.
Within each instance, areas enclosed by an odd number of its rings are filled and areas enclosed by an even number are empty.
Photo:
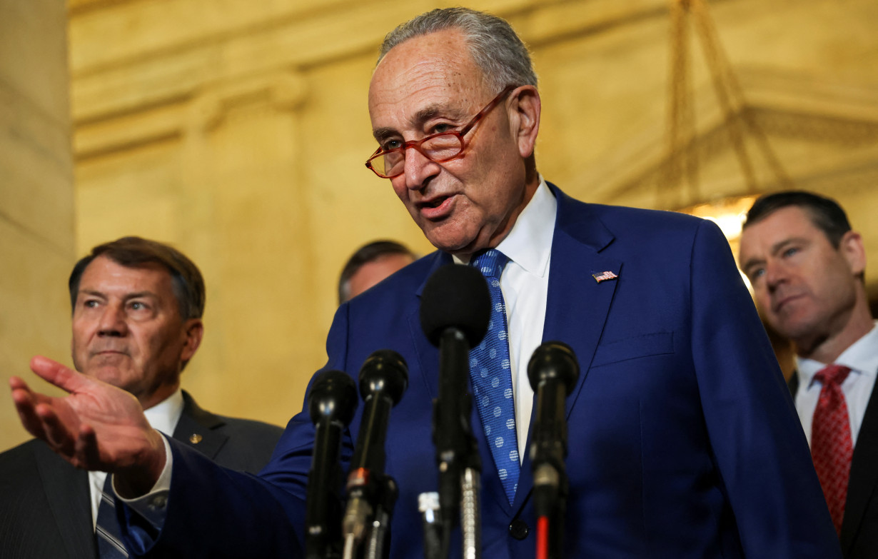
[[[379,349],[363,362],[360,369],[363,419],[360,420],[360,433],[348,470],[348,505],[342,520],[345,555],[349,553],[348,548],[363,539],[374,512],[385,501],[387,423],[391,408],[399,404],[407,388],[408,366],[402,355],[390,349]]]

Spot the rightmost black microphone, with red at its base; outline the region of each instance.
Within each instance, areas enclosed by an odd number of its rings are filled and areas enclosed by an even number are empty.
[[[566,496],[565,456],[567,419],[565,400],[579,378],[572,348],[561,341],[545,341],[530,357],[528,379],[536,392],[536,415],[531,435],[530,462],[534,475],[537,516],[549,516]]]

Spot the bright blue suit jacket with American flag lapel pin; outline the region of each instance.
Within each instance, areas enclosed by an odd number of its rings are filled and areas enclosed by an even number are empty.
[[[568,343],[582,369],[566,403],[565,556],[840,557],[787,387],[716,226],[552,191],[543,339]],[[356,376],[379,348],[409,365],[387,434],[386,471],[399,484],[392,557],[423,556],[417,495],[437,487],[430,410],[439,356],[421,333],[419,307],[428,276],[447,262],[430,254],[342,305],[327,340],[327,369]],[[604,271],[618,278],[596,282],[592,274]],[[529,458],[510,506],[476,412],[472,424],[485,465],[483,556],[532,557],[535,532],[516,540],[509,530],[514,520],[535,524]],[[174,445],[164,528],[156,538],[133,522],[129,545],[162,557],[297,556],[312,445],[306,412],[291,419],[258,478]]]

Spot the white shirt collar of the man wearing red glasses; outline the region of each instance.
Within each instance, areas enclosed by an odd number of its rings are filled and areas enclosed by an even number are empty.
[[[543,176],[534,196],[524,207],[515,225],[501,240],[497,250],[506,254],[511,262],[515,262],[525,271],[534,276],[543,277],[549,271],[551,241],[555,234],[555,216],[558,211],[558,200],[549,190]],[[548,226],[547,226],[548,225]],[[458,264],[469,263],[454,256]]]

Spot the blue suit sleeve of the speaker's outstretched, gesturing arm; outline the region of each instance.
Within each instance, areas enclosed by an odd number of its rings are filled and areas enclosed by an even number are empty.
[[[325,369],[344,367],[346,315],[347,305],[342,305],[327,338]],[[164,524],[155,530],[136,513],[120,507],[126,547],[135,556],[162,559],[304,556],[313,442],[307,404],[290,419],[259,476],[223,468],[183,443],[169,441],[173,469]],[[342,468],[352,447],[346,432]]]

